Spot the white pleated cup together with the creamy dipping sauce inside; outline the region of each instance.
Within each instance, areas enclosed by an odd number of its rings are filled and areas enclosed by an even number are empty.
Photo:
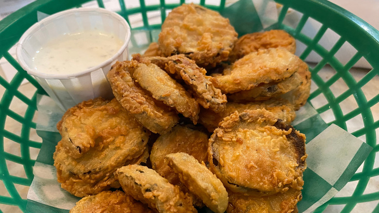
[[[17,44],[21,67],[62,109],[99,96],[111,98],[106,74],[128,57],[130,26],[117,13],[78,8],[30,27]]]

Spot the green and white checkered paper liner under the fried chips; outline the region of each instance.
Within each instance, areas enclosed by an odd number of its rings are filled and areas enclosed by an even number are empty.
[[[229,18],[239,35],[260,31],[276,23],[276,4],[272,0],[229,0],[222,15]],[[235,16],[238,13],[239,16]],[[44,14],[40,14],[44,18]],[[290,17],[291,18],[291,17]],[[293,20],[296,21],[296,17]],[[140,20],[130,20],[138,24]],[[249,26],[249,27],[247,27]],[[156,41],[160,30],[132,31],[130,53],[143,53]],[[130,55],[131,56],[131,55]],[[129,57],[130,57],[129,56]],[[61,136],[56,123],[62,111],[47,96],[39,96],[37,134],[43,139],[34,166],[34,180],[28,194],[26,211],[68,213],[80,198],[61,189],[56,180],[52,155]],[[299,212],[309,213],[339,192],[366,159],[371,147],[340,127],[328,126],[316,110],[306,104],[296,112],[293,126],[307,137],[308,168],[304,172],[303,199]],[[210,212],[203,208],[199,212]]]

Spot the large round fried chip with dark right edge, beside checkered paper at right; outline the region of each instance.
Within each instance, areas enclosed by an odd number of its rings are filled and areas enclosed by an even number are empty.
[[[301,190],[306,157],[305,135],[265,109],[234,112],[208,143],[210,170],[236,193]]]

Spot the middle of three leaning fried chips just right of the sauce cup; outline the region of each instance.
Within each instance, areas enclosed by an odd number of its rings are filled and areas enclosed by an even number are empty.
[[[191,94],[157,65],[139,63],[133,71],[139,86],[149,91],[153,98],[175,108],[184,117],[197,123],[200,107]]]

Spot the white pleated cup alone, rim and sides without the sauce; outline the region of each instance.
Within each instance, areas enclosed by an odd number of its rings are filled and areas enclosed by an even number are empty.
[[[41,46],[64,34],[96,30],[114,34],[123,41],[119,51],[103,63],[76,73],[47,74],[34,68],[33,57]],[[113,97],[106,74],[117,61],[127,60],[130,26],[117,13],[102,8],[65,10],[44,18],[31,26],[17,44],[17,59],[21,67],[50,95],[62,109],[99,96]]]

